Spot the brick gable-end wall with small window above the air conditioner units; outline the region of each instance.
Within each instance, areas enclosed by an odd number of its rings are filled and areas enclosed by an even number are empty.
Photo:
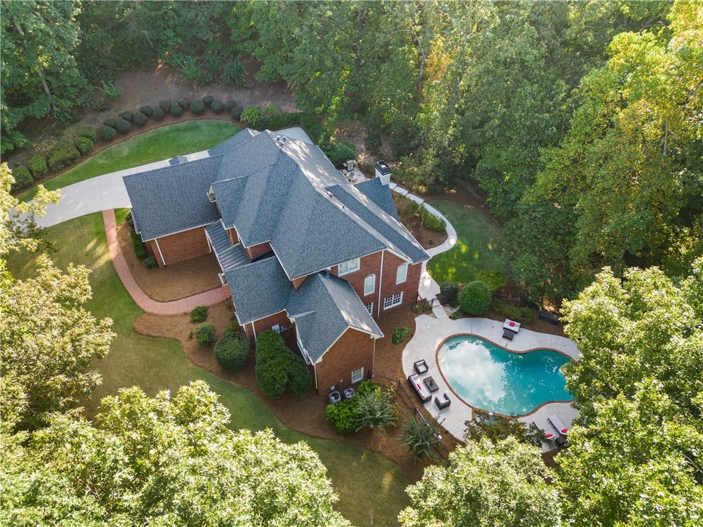
[[[326,397],[330,386],[352,386],[352,370],[363,367],[363,379],[373,375],[373,344],[367,333],[349,328],[316,365],[318,393]],[[341,383],[340,383],[341,381]]]

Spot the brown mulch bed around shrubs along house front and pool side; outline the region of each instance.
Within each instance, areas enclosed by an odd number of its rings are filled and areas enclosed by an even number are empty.
[[[390,334],[392,334],[394,327],[397,325],[405,325],[411,329],[411,332],[414,332],[414,317],[415,315],[409,308],[401,308],[388,313],[382,319],[380,327],[387,337],[380,339],[376,347],[375,367],[378,375],[391,379],[404,378],[401,365],[404,344],[394,346],[391,342]],[[218,337],[221,336],[222,330],[231,320],[233,320],[231,301],[227,300],[209,307],[207,321],[214,324]],[[302,399],[290,396],[283,396],[280,399],[266,398],[259,390],[259,386],[254,379],[253,356],[242,370],[237,372],[224,370],[214,358],[212,352],[214,346],[200,346],[193,339],[192,332],[194,329],[195,324],[191,323],[187,314],[155,315],[153,313],[144,313],[134,322],[134,330],[136,332],[148,337],[165,337],[178,340],[183,346],[186,356],[193,364],[256,393],[262,403],[271,409],[280,422],[290,429],[309,436],[347,441],[375,450],[396,462],[408,475],[408,478],[413,481],[422,476],[423,469],[427,465],[432,464],[430,460],[423,462],[413,461],[409,457],[408,448],[405,445],[401,445],[398,441],[401,435],[401,423],[410,419],[413,415],[412,410],[407,408],[402,401],[397,401],[401,414],[399,426],[394,429],[388,429],[385,436],[373,433],[370,430],[363,430],[356,434],[348,435],[337,434],[325,421],[325,401],[315,393],[314,389],[311,389],[308,396]],[[410,338],[408,337],[408,339]],[[443,450],[453,449],[457,441],[444,430],[442,435]]]

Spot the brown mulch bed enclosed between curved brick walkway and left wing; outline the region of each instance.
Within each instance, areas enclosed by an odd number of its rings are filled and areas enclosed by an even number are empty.
[[[169,266],[147,269],[134,254],[127,222],[117,226],[117,240],[127,260],[129,271],[148,297],[168,302],[190,297],[193,294],[221,287],[218,274],[221,272],[214,254],[205,254]]]

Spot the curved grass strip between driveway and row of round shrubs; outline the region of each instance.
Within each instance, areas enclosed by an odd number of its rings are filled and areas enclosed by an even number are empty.
[[[241,127],[234,123],[212,119],[162,126],[105,148],[72,169],[47,179],[44,186],[56,190],[116,170],[138,167],[174,155],[200,152],[212,148],[240,130]],[[19,198],[23,201],[31,200],[36,193],[36,187],[30,188],[20,194]]]

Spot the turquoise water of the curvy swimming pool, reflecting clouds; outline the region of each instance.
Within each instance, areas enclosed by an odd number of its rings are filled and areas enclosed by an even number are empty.
[[[548,401],[571,401],[559,368],[561,353],[538,349],[512,353],[479,337],[460,335],[439,347],[437,362],[451,388],[475,408],[526,414]]]

